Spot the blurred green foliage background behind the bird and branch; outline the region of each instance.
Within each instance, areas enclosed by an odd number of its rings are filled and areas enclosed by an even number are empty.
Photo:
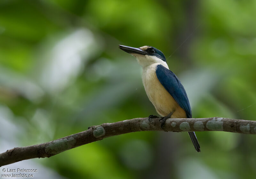
[[[156,115],[141,67],[119,44],[163,51],[194,118],[255,120],[255,18],[255,0],[0,0],[0,152]],[[38,169],[34,178],[255,178],[256,136],[196,135],[201,153],[187,133],[137,132],[5,168]]]

